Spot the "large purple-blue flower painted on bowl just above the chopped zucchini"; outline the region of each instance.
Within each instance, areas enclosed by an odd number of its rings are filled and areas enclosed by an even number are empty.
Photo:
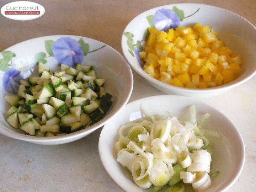
[[[53,45],[52,51],[58,63],[68,66],[74,63],[81,63],[84,59],[80,44],[70,37],[61,37]]]

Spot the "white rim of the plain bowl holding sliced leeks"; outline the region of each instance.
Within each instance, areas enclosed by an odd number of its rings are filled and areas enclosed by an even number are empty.
[[[199,101],[199,100],[197,100],[197,99],[195,99],[195,98],[186,97],[186,96],[181,96],[181,95],[156,95],[156,96],[149,96],[149,97],[144,97],[144,98],[140,98],[140,99],[138,99],[138,100],[132,101],[132,102],[128,103],[126,106],[133,105],[133,103],[135,103],[135,102],[141,103],[144,99],[149,99],[149,98],[154,98],[154,97],[179,97],[179,98],[183,98],[183,99],[191,99],[191,100],[194,100],[194,101],[196,101],[196,102],[198,102],[198,103],[200,103],[200,104],[202,104],[202,105],[205,105],[206,107],[209,107],[210,109],[212,109],[212,110],[218,112],[220,115],[224,116],[227,121],[229,121],[229,123],[232,125],[232,127],[233,127],[235,133],[236,133],[236,134],[238,135],[238,137],[239,137],[239,141],[240,141],[239,143],[241,144],[241,148],[242,148],[242,151],[241,151],[242,155],[239,156],[239,158],[240,158],[240,161],[239,161],[239,163],[238,163],[238,164],[239,164],[239,169],[236,170],[235,175],[233,175],[233,176],[231,177],[231,180],[230,180],[228,183],[226,183],[226,184],[224,185],[224,187],[223,187],[220,191],[226,191],[226,190],[228,190],[228,189],[236,182],[236,180],[238,180],[238,177],[240,176],[240,174],[241,174],[241,172],[242,172],[242,170],[243,170],[243,168],[244,168],[244,164],[245,164],[245,154],[246,154],[246,152],[245,152],[245,144],[244,144],[244,140],[242,139],[242,135],[241,135],[241,133],[239,132],[238,128],[235,126],[235,124],[234,124],[224,113],[222,113],[221,111],[219,111],[217,108],[214,108],[214,107],[210,106],[209,104],[204,103],[204,102],[202,102],[202,101]],[[124,107],[124,110],[125,110],[125,107]],[[106,129],[106,126],[107,126],[107,123],[103,126],[103,128],[102,128],[102,130],[101,130],[100,137],[99,137],[99,141],[98,141],[98,152],[99,152],[100,160],[101,160],[101,163],[102,163],[104,169],[107,171],[107,173],[108,173],[108,175],[111,177],[111,179],[112,179],[120,188],[122,188],[124,191],[127,191],[126,188],[124,188],[120,183],[118,183],[118,182],[114,179],[114,176],[112,175],[112,174],[113,174],[113,171],[108,168],[108,166],[106,165],[106,163],[105,163],[105,161],[104,161],[105,159],[103,158],[103,155],[102,155],[103,146],[105,145],[105,144],[103,143],[103,138],[106,136],[106,135],[103,136],[103,130]],[[135,185],[135,184],[134,184],[134,185]]]

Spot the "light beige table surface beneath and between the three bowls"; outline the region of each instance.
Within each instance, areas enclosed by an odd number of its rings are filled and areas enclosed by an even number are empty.
[[[0,7],[10,1],[1,0]],[[121,52],[121,35],[128,22],[156,6],[185,0],[41,0],[45,14],[32,21],[0,16],[0,45],[52,34],[73,34],[97,39]],[[255,0],[197,0],[235,12],[256,25]],[[0,51],[1,51],[0,50]],[[121,52],[122,53],[122,52]],[[135,71],[129,102],[162,95]],[[244,170],[229,191],[255,191],[256,182],[256,76],[221,95],[200,99],[228,116],[240,130],[246,148]],[[122,191],[107,175],[98,156],[101,128],[76,142],[43,146],[0,135],[0,191]]]

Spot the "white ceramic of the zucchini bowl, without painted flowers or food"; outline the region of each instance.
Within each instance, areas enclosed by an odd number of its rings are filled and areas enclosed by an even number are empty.
[[[85,51],[89,51],[89,53],[84,56],[81,63],[93,65],[98,77],[106,79],[105,90],[112,94],[111,100],[113,101],[113,104],[106,116],[101,119],[101,121],[90,126],[89,128],[56,137],[30,136],[23,132],[21,129],[12,128],[5,121],[6,111],[10,108],[10,106],[6,104],[3,98],[7,92],[3,86],[6,83],[3,84],[2,78],[4,75],[9,75],[7,71],[8,68],[18,69],[21,71],[21,76],[23,77],[27,77],[30,73],[32,73],[34,76],[37,76],[37,67],[35,68],[34,72],[32,71],[38,59],[46,62],[47,67],[51,70],[60,70],[60,66],[58,65],[57,60],[53,56],[49,56],[50,52],[48,46],[48,43],[50,42],[49,40],[57,41],[57,39],[60,37],[70,37],[75,41],[79,41],[79,39],[82,38],[85,43],[88,43],[86,46],[89,49]],[[46,48],[48,50],[46,50]],[[3,51],[2,56],[0,56],[0,59],[4,57],[3,59],[7,59],[8,62],[8,65],[6,64],[6,66],[4,66],[1,64],[0,66],[0,133],[8,137],[45,145],[72,142],[74,140],[85,137],[86,135],[92,133],[94,130],[108,122],[126,105],[132,93],[133,75],[132,70],[130,69],[126,60],[112,47],[94,39],[69,35],[45,36],[18,43],[12,47],[7,48],[6,50],[10,52]],[[37,56],[35,56],[36,54]],[[6,58],[6,55],[9,55],[10,59]],[[3,59],[1,59],[0,62],[3,61]],[[10,74],[13,74],[13,71],[9,70],[9,72]]]

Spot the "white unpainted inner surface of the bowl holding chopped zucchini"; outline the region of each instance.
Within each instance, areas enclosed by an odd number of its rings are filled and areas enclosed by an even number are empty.
[[[95,68],[98,78],[106,79],[105,91],[109,92],[112,95],[113,105],[111,106],[110,111],[106,116],[93,126],[90,126],[87,129],[80,130],[75,133],[67,134],[60,136],[62,138],[68,138],[70,136],[85,134],[92,132],[96,128],[102,126],[102,122],[105,122],[107,119],[112,117],[122,106],[126,104],[129,99],[130,93],[132,91],[133,77],[129,65],[116,50],[112,47],[105,45],[102,42],[96,41],[94,39],[79,37],[79,36],[46,36],[39,37],[35,39],[30,39],[25,42],[21,42],[12,46],[6,50],[9,50],[16,54],[16,57],[13,57],[9,62],[10,68],[15,68],[21,70],[21,74],[24,77],[28,75],[38,76],[38,66],[33,63],[33,57],[36,53],[46,52],[45,42],[47,40],[56,41],[60,37],[70,37],[78,41],[80,38],[84,42],[88,43],[90,48],[89,50],[96,50],[95,52],[88,53],[84,56],[84,60],[81,64],[92,65]],[[104,47],[103,47],[104,46]],[[102,47],[102,48],[101,48]],[[60,66],[57,60],[54,57],[46,57],[47,63],[45,64],[52,71],[60,71]],[[4,100],[4,96],[9,94],[5,91],[2,77],[4,76],[5,71],[0,71],[0,131],[5,135],[19,137],[19,138],[29,138],[29,139],[45,139],[48,138],[38,138],[34,136],[27,135],[21,129],[12,128],[6,121],[6,111],[9,110],[10,106]],[[55,139],[51,138],[51,139]]]

